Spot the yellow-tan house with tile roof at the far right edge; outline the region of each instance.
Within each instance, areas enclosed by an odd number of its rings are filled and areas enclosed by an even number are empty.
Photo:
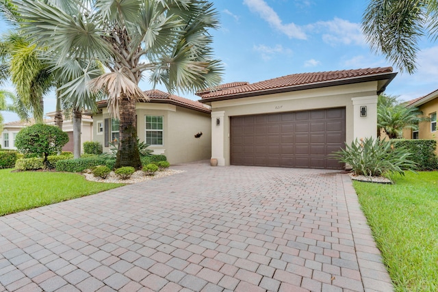
[[[403,129],[405,139],[434,139],[437,137],[437,112],[438,112],[438,90],[430,92],[425,96],[415,98],[407,103],[407,107],[417,107],[422,111],[423,116],[430,118],[430,121],[420,122],[418,130]]]

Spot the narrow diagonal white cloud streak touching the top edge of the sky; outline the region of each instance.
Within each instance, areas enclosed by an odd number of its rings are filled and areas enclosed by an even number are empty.
[[[251,11],[259,14],[271,27],[285,34],[289,38],[307,39],[304,31],[294,23],[283,24],[278,14],[263,0],[244,0],[244,4]]]

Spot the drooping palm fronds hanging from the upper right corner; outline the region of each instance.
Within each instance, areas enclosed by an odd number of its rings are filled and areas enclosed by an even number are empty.
[[[422,36],[438,37],[438,1],[371,0],[362,31],[373,51],[412,74]]]

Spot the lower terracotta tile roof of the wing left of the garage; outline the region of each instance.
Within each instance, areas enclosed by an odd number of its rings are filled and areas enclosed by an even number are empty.
[[[149,103],[168,102],[174,105],[179,105],[181,107],[194,109],[196,111],[204,111],[206,113],[209,113],[211,111],[211,109],[203,105],[203,103],[200,103],[198,101],[192,101],[191,99],[183,98],[175,94],[168,94],[166,92],[162,92],[161,90],[157,90],[157,89],[146,90],[145,93],[149,96],[149,98],[151,98],[151,101],[149,101]],[[97,105],[106,105],[106,104],[107,104],[107,100],[97,102]]]

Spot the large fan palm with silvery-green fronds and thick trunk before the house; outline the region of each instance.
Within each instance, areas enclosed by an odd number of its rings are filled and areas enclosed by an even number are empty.
[[[116,168],[141,167],[137,148],[136,102],[149,100],[138,83],[149,81],[189,91],[220,83],[222,67],[212,58],[208,29],[218,26],[205,0],[11,1],[21,30],[62,64],[98,60],[107,73],[90,86],[108,96],[108,111],[120,120]],[[47,3],[45,3],[47,2]]]

